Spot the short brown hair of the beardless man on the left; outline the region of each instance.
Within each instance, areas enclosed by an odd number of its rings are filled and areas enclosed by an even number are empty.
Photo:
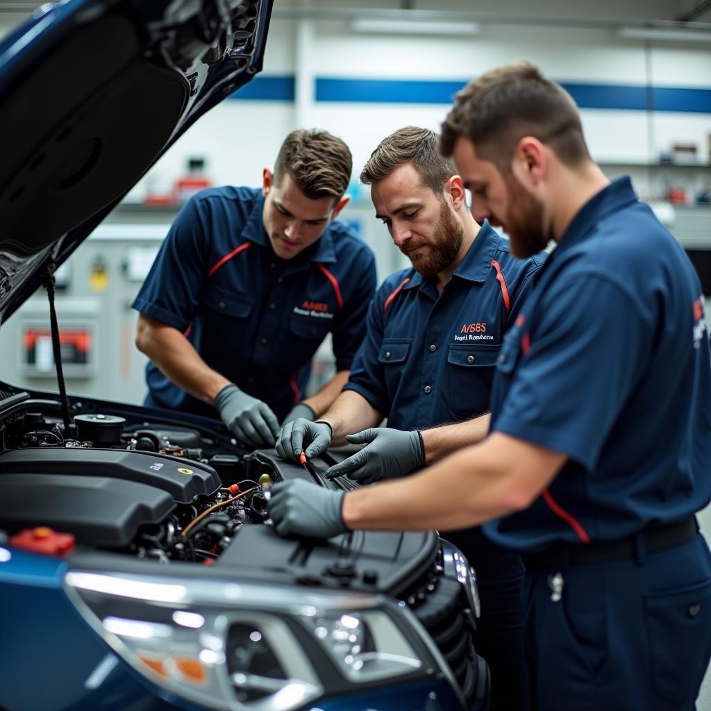
[[[282,143],[274,164],[274,185],[279,186],[285,173],[296,187],[316,200],[343,197],[353,171],[353,156],[340,138],[318,129],[296,129]]]

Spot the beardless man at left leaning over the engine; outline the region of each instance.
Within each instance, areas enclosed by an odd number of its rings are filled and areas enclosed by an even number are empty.
[[[348,380],[375,291],[373,252],[336,220],[351,151],[325,131],[284,140],[262,188],[210,188],[181,210],[133,303],[151,359],[145,405],[215,417],[250,447],[322,415]],[[301,400],[328,332],[336,375]]]

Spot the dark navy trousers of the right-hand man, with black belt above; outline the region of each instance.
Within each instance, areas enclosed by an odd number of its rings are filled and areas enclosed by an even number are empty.
[[[702,535],[649,554],[638,543],[633,560],[526,565],[536,710],[695,709],[711,656],[711,555]],[[556,573],[563,584],[554,602]]]

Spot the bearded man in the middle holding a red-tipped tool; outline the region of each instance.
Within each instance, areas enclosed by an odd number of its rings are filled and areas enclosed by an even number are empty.
[[[412,267],[387,277],[376,292],[351,378],[328,412],[319,422],[297,419],[282,429],[277,451],[285,458],[296,459],[302,449],[316,456],[349,435],[348,442],[368,444],[326,474],[372,483],[485,434],[486,421],[471,417],[488,410],[501,338],[542,257],[511,257],[507,240],[474,221],[455,173],[427,129],[400,129],[370,156],[360,180],[372,186],[376,216]],[[383,417],[388,427],[375,427]],[[461,424],[424,429],[443,422]],[[474,641],[491,668],[494,707],[523,710],[520,557],[486,541],[479,529],[451,540],[479,580],[483,616]]]

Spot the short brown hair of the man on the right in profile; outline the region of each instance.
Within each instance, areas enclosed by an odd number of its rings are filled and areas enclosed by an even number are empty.
[[[457,93],[442,124],[439,149],[451,156],[457,139],[468,138],[479,156],[508,171],[524,136],[549,145],[569,166],[590,157],[570,94],[535,65],[520,61],[481,75]]]

